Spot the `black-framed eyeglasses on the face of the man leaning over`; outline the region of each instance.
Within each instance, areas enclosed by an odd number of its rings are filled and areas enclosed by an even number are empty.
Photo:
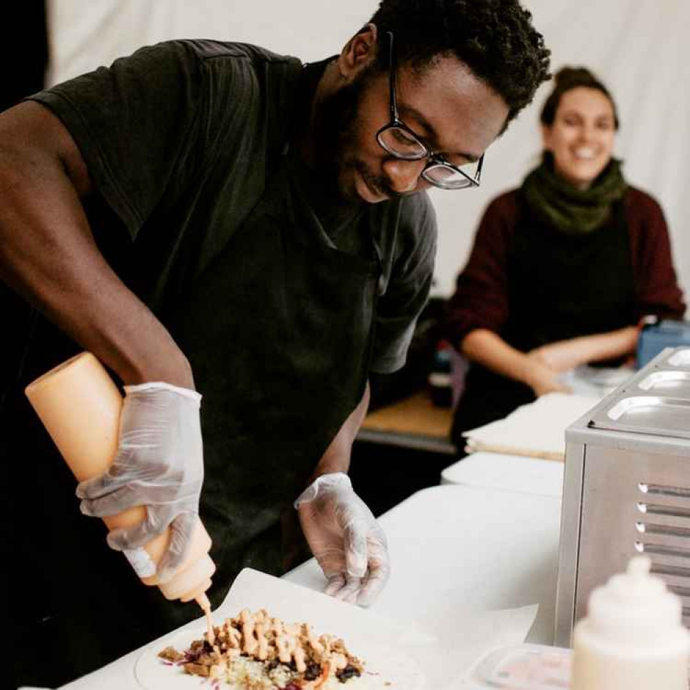
[[[420,173],[433,186],[440,189],[468,189],[478,187],[482,176],[484,155],[477,163],[475,174],[468,175],[464,170],[454,166],[442,155],[434,152],[431,146],[417,136],[398,117],[397,99],[395,97],[395,50],[393,32],[386,31],[388,36],[388,84],[391,92],[391,121],[378,132],[376,139],[380,146],[391,156],[404,161],[421,161],[428,159]]]

